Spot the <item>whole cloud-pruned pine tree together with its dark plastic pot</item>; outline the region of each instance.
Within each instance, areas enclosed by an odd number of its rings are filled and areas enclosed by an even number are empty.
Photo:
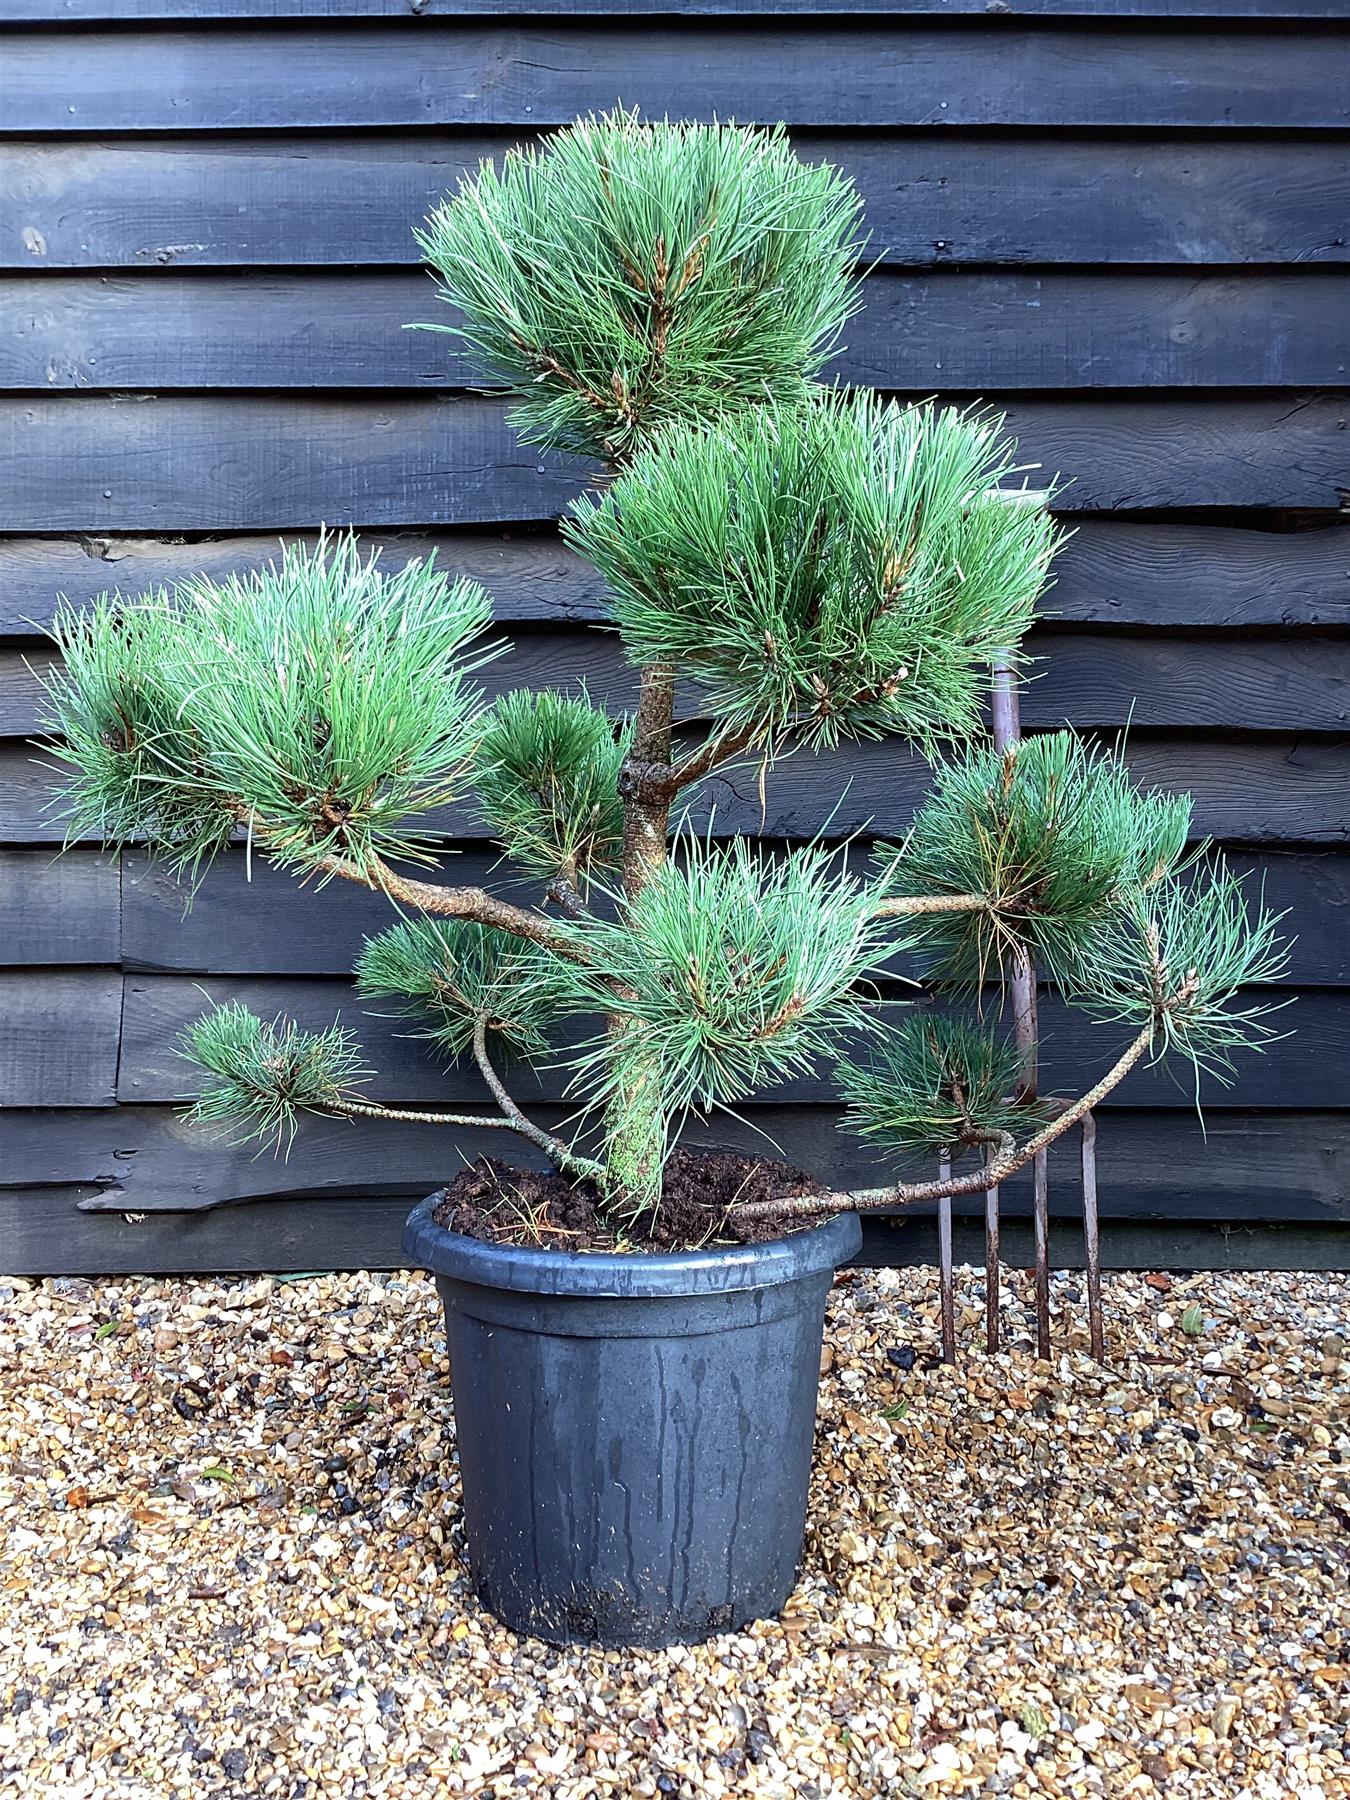
[[[565,531],[608,585],[632,718],[578,691],[486,704],[482,589],[349,536],[56,625],[72,826],[187,877],[243,833],[315,889],[383,893],[400,916],[360,992],[491,1103],[392,1107],[347,1030],[227,1004],[187,1033],[196,1120],[277,1147],[304,1112],[522,1139],[524,1165],[418,1206],[405,1247],[445,1301],[481,1597],[545,1638],[697,1640],[781,1607],[859,1215],[983,1192],[1141,1058],[1222,1064],[1267,1031],[1235,995],[1276,972],[1274,920],[1188,853],[1188,803],[1069,733],[986,747],[1055,527],[1003,491],[997,421],[814,385],[857,304],[857,218],[781,131],[616,115],[484,167],[421,234],[524,441],[607,464]],[[878,736],[934,781],[871,859],[677,828],[715,770]],[[448,803],[536,905],[428,875]],[[1058,1102],[1030,1103],[999,1022],[1031,956],[1125,1035]],[[972,1004],[880,1001],[896,968]],[[571,1071],[565,1129],[526,1114],[508,1058]],[[823,1062],[875,1188],[679,1147]]]

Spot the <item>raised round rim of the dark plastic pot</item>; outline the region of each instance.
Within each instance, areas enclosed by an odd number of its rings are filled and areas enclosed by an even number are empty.
[[[567,1294],[578,1300],[644,1300],[738,1292],[779,1287],[837,1269],[862,1246],[857,1213],[835,1213],[819,1226],[767,1244],[718,1244],[706,1249],[565,1251],[527,1244],[486,1244],[446,1231],[432,1211],[445,1190],[428,1193],[403,1226],[403,1249],[434,1274],[477,1287],[504,1287],[526,1294]]]

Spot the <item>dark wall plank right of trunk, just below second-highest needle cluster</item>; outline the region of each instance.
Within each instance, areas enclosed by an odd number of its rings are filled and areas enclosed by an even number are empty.
[[[1127,761],[1150,787],[1190,792],[1195,830],[1242,844],[1350,842],[1350,742],[1339,738],[1219,734],[1130,736]],[[770,776],[763,805],[758,770],[718,774],[698,790],[688,824],[715,835],[832,841],[864,830],[905,830],[927,787],[927,765],[895,743],[864,743],[842,754],[792,756]],[[0,842],[54,844],[61,823],[49,810],[54,774],[40,754],[0,745]],[[477,839],[466,806],[434,815],[428,833]]]

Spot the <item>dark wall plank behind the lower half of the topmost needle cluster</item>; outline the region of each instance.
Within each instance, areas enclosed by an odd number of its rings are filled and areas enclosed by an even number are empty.
[[[1334,387],[1350,275],[1078,270],[866,281],[828,374],[869,387]],[[464,387],[414,270],[0,279],[0,389]]]

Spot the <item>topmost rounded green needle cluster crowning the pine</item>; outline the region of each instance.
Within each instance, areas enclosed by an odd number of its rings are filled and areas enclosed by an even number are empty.
[[[416,232],[452,331],[529,443],[628,457],[662,425],[797,400],[855,310],[860,202],[783,133],[581,119]]]

